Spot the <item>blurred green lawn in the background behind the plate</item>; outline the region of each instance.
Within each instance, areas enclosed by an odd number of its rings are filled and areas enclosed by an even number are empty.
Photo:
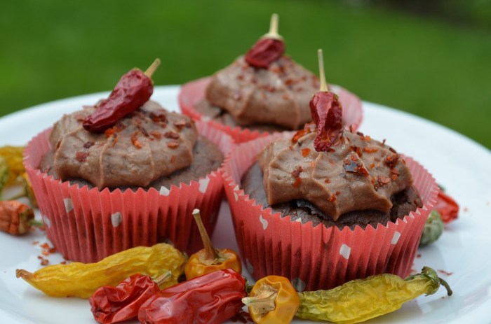
[[[0,10],[0,116],[110,90],[128,69],[163,64],[156,85],[231,63],[271,13],[293,59],[361,99],[420,115],[491,148],[491,34],[337,1],[19,0]]]

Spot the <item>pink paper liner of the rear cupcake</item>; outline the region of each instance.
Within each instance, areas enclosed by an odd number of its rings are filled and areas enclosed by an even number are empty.
[[[251,131],[247,128],[226,126],[215,120],[210,120],[196,111],[194,105],[204,99],[205,89],[208,86],[208,83],[210,83],[210,77],[201,78],[182,85],[177,98],[182,113],[189,115],[194,120],[208,122],[213,127],[229,134],[236,143],[243,143],[269,135],[267,132],[259,132],[257,130]],[[363,108],[360,99],[343,87],[339,87],[339,85],[332,85],[331,90],[338,94],[339,100],[342,103],[344,124],[347,125],[347,128],[351,127],[351,130],[355,132],[356,129],[360,127],[361,120],[363,119]]]

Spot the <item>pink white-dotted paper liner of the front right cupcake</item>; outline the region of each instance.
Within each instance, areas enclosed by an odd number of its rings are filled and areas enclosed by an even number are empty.
[[[229,200],[236,239],[248,272],[255,278],[285,276],[302,290],[330,289],[373,274],[410,274],[424,223],[436,202],[436,181],[410,157],[405,162],[424,205],[408,216],[377,228],[314,227],[281,217],[249,199],[240,188],[241,177],[273,134],[236,146],[224,165],[225,194]]]

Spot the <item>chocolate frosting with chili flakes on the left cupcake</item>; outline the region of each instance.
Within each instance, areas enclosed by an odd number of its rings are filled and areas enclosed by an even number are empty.
[[[189,117],[147,101],[105,133],[88,132],[82,122],[95,109],[64,115],[53,126],[57,178],[82,178],[98,188],[144,187],[191,164],[198,133]]]

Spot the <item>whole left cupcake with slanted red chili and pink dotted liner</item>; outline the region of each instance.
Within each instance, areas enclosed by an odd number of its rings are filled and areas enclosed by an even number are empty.
[[[194,253],[195,208],[213,232],[219,169],[233,141],[149,100],[148,71],[126,73],[109,98],[64,115],[27,144],[24,164],[48,238],[68,260],[96,262],[162,241]]]

